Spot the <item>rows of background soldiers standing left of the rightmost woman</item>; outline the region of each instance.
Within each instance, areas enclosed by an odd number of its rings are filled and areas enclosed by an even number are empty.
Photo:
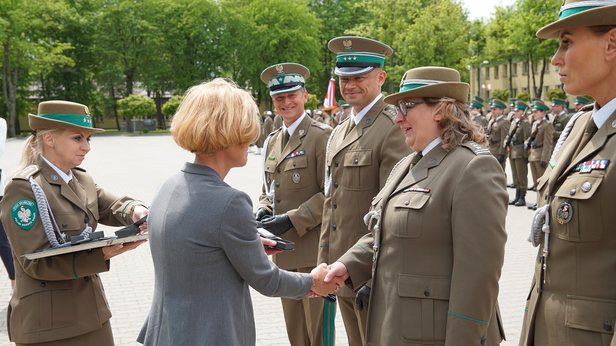
[[[571,114],[566,100],[553,97],[551,107],[540,99],[528,103],[509,99],[509,113],[506,103],[496,97],[488,100],[490,111],[484,111],[485,100],[475,95],[470,103],[471,115],[481,124],[488,137],[490,152],[498,162],[506,166],[509,157],[513,183],[508,188],[516,189],[516,197],[509,201],[512,206],[527,206],[527,191],[537,191],[537,180],[548,167],[556,142]],[[591,103],[587,97],[575,98],[575,111]],[[528,186],[528,172],[532,174],[532,186]],[[527,206],[537,210],[537,204]]]

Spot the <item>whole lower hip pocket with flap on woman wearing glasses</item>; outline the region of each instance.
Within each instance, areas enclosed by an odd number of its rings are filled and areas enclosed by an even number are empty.
[[[400,339],[424,345],[444,344],[452,279],[399,274]]]

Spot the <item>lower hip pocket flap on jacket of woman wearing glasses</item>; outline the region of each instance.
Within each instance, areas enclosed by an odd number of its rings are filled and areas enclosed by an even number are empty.
[[[401,297],[449,299],[452,278],[398,274],[398,294]]]

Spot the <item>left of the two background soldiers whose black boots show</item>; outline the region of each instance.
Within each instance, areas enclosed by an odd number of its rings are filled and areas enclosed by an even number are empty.
[[[526,189],[529,183],[529,152],[524,148],[524,141],[530,137],[530,123],[525,117],[528,108],[524,101],[516,101],[513,108],[516,118],[511,122],[509,134],[503,144],[503,147],[509,147],[511,174],[516,188],[516,198],[509,201],[509,205],[516,207],[526,205]]]

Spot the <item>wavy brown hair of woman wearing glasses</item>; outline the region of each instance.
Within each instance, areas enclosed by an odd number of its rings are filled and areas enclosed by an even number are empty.
[[[439,128],[445,151],[460,147],[469,140],[487,145],[484,128],[472,121],[468,105],[449,97],[426,97],[424,100],[433,105],[434,114],[440,112],[443,115],[439,121]]]

